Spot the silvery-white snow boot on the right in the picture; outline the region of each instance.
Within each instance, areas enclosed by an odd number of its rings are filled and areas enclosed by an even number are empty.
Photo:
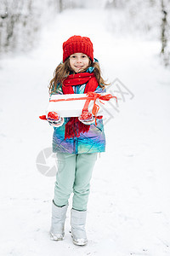
[[[84,246],[88,243],[85,230],[86,216],[87,211],[81,212],[71,209],[71,236],[73,243],[78,246]]]

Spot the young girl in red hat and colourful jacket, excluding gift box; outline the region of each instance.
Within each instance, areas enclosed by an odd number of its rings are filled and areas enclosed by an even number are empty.
[[[50,82],[50,95],[101,93],[105,92],[105,85],[91,40],[81,36],[69,38],[63,44],[63,62],[56,67]],[[50,236],[63,240],[68,200],[73,192],[71,236],[74,244],[82,246],[88,242],[85,224],[90,179],[97,154],[105,151],[103,120],[97,119],[96,124],[88,112],[65,119],[51,112],[48,122],[54,126],[53,150],[58,158]]]

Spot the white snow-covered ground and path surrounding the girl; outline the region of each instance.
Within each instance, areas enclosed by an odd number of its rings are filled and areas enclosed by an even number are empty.
[[[170,255],[170,72],[159,65],[158,42],[115,36],[107,19],[101,10],[67,10],[44,28],[37,49],[0,61],[1,255]],[[120,79],[134,94],[105,125],[107,150],[94,168],[86,247],[72,244],[71,202],[65,240],[49,239],[55,178],[36,166],[53,134],[38,116],[62,43],[74,34],[91,38],[104,77]]]

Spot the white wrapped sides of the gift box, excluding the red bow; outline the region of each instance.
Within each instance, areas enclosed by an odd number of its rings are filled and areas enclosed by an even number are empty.
[[[99,95],[105,96],[107,93],[101,93]],[[81,115],[82,108],[87,99],[87,94],[52,95],[48,103],[46,116],[48,115],[48,112],[54,111],[58,113],[60,117],[78,117]],[[111,98],[110,101],[105,101],[97,98],[95,103],[99,106],[97,115],[111,115],[114,110],[116,99]],[[88,106],[88,111],[90,113],[92,113],[93,107],[94,100],[91,100]]]

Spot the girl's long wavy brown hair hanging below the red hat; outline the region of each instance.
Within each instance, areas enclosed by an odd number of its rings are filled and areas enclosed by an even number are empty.
[[[109,85],[105,83],[105,80],[101,77],[101,70],[99,67],[99,62],[97,61],[91,61],[89,59],[88,67],[94,67],[94,75],[98,81],[98,84],[101,88],[105,88],[105,85]],[[82,72],[85,72],[88,67],[85,70],[82,70]],[[49,83],[49,93],[53,93],[58,86],[62,86],[63,81],[70,75],[70,73],[75,73],[70,66],[70,60],[69,58],[66,59],[64,63],[60,63],[54,70],[54,78]]]

